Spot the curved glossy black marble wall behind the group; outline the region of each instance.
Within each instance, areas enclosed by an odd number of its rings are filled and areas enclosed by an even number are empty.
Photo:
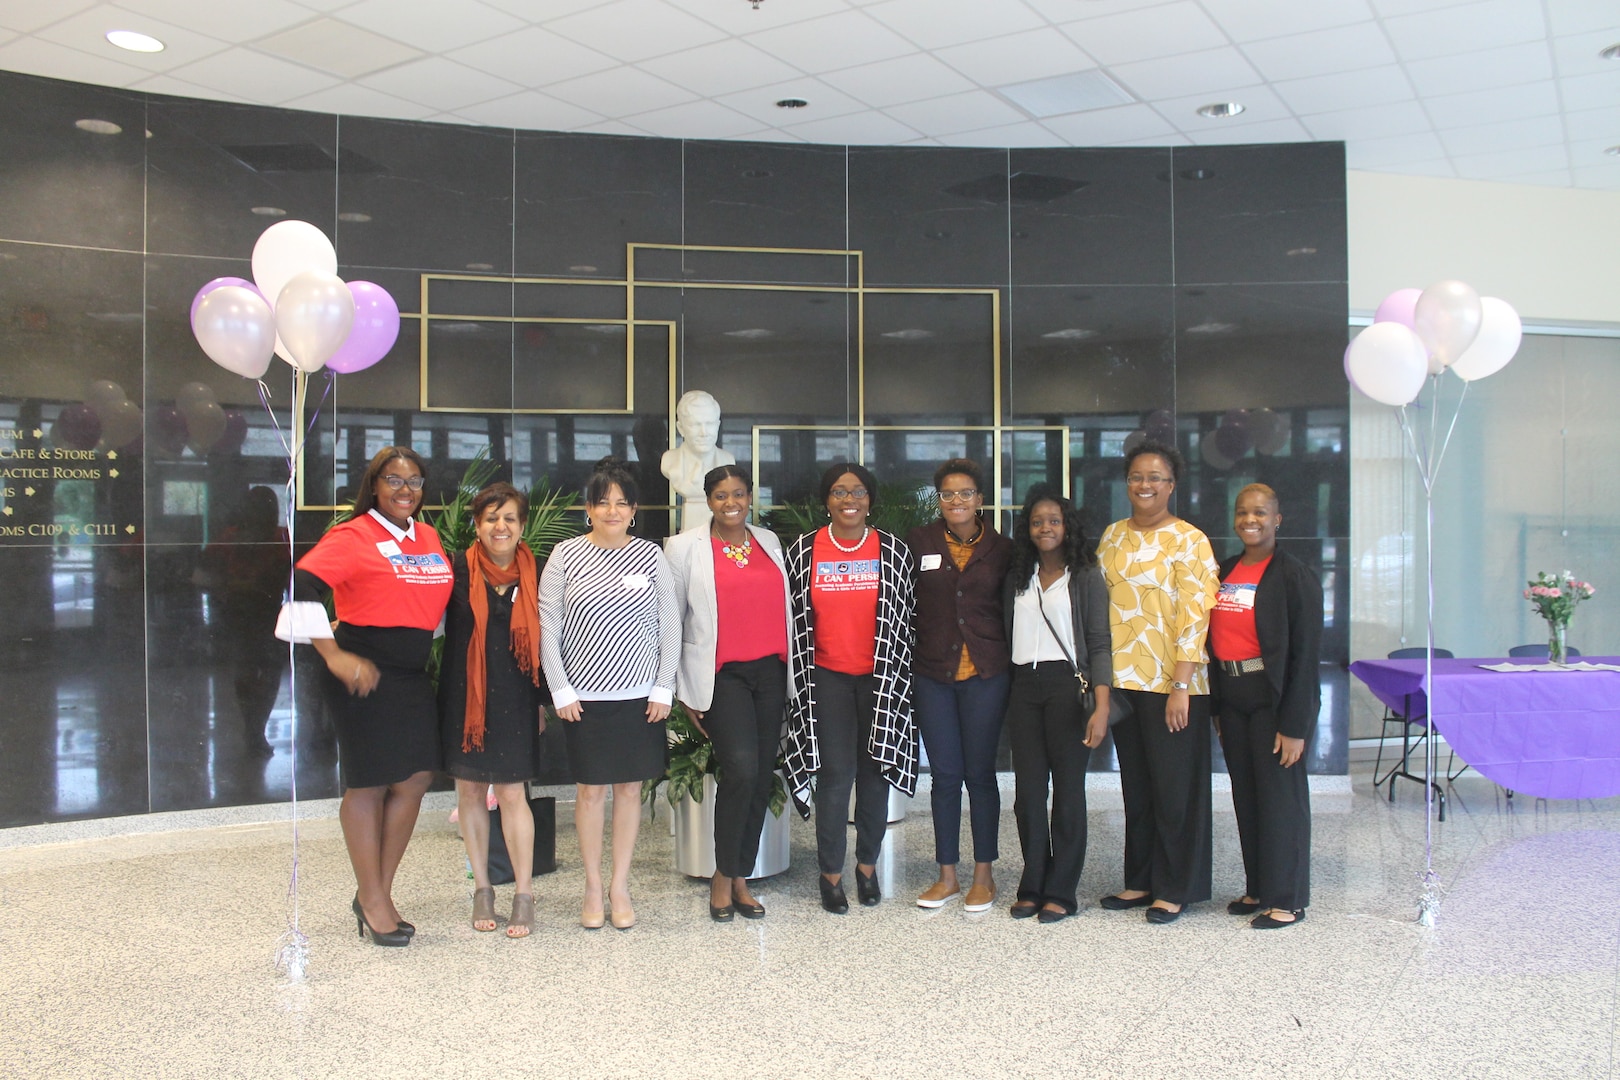
[[[666,141],[0,91],[0,826],[282,800],[293,750],[300,793],[337,793],[318,661],[269,631],[305,429],[300,549],[390,444],[426,458],[429,505],[478,453],[565,491],[617,455],[637,531],[663,536],[688,389],[721,400],[766,504],[834,460],[925,484],[1000,445],[998,502],[1066,474],[1095,531],[1152,434],[1220,551],[1236,491],[1278,491],[1345,659],[1336,144]],[[403,313],[379,364],[316,372],[296,413],[288,364],[266,411],[186,317],[287,219]],[[629,244],[648,244],[633,275]],[[1341,771],[1327,730],[1311,767]],[[567,780],[561,753],[546,779]]]

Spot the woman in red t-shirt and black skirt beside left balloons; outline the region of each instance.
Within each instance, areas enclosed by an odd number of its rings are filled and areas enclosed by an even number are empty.
[[[439,767],[439,709],[428,651],[450,602],[439,534],[413,521],[428,471],[410,447],[384,447],[360,479],[355,508],[298,560],[293,599],[275,636],[326,661],[321,688],[337,724],[355,921],[379,946],[410,944],[416,928],[394,907],[394,871]],[[321,597],[330,591],[337,623]]]

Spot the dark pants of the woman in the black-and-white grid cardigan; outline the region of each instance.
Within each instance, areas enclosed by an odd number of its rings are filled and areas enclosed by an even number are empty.
[[[889,826],[889,782],[867,753],[878,709],[875,675],[815,669],[816,743],[815,850],[823,874],[844,873],[849,845],[849,789],[855,789],[855,861],[872,866]]]

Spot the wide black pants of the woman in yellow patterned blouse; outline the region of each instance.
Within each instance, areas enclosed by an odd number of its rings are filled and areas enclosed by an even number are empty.
[[[1155,900],[1210,899],[1210,699],[1192,695],[1187,725],[1165,727],[1170,695],[1119,690],[1131,716],[1113,729],[1124,795],[1124,887]]]

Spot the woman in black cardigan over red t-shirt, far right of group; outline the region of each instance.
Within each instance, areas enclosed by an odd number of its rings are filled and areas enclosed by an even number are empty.
[[[1226,905],[1256,929],[1291,926],[1311,904],[1311,785],[1299,764],[1322,685],[1322,583],[1277,547],[1277,492],[1238,492],[1243,554],[1220,567],[1210,615],[1212,712],[1231,776],[1247,891]]]

